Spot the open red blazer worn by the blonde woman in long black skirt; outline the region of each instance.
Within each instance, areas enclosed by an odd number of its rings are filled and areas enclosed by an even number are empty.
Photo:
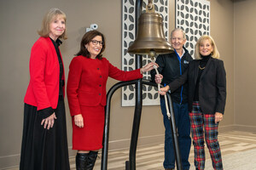
[[[60,65],[49,37],[39,37],[32,46],[29,71],[30,82],[24,102],[38,107],[38,111],[48,107],[55,109],[59,98]],[[63,71],[62,80],[64,77]],[[63,93],[64,89],[63,86]]]

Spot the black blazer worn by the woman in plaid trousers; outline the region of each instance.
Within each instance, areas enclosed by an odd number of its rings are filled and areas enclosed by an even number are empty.
[[[195,83],[198,76],[200,60],[193,60],[184,74],[169,84],[170,90],[174,91],[183,83],[189,82],[189,111],[192,111],[192,104],[195,94]],[[224,62],[220,59],[208,60],[206,68],[201,73],[199,82],[199,103],[204,114],[224,114],[226,102],[226,72]]]

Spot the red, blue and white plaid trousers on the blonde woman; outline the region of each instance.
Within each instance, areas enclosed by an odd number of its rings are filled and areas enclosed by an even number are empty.
[[[218,144],[218,123],[215,123],[215,116],[203,114],[199,102],[195,101],[189,118],[195,151],[195,167],[199,170],[205,168],[205,133],[207,147],[212,158],[212,167],[222,170],[223,165]]]

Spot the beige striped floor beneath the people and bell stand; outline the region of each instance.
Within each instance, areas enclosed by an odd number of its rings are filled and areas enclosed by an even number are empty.
[[[256,169],[256,133],[230,131],[219,133],[219,144],[225,170],[252,170]],[[181,148],[182,149],[182,148]],[[206,149],[206,170],[213,169]],[[114,150],[108,152],[108,170],[125,170],[125,161],[128,160],[129,150]],[[152,144],[137,148],[137,170],[163,170],[164,144]],[[190,169],[194,170],[194,150],[191,145],[189,162]],[[71,169],[75,170],[75,160],[70,159]],[[9,170],[18,170],[12,168]],[[96,160],[94,170],[101,169],[101,154]]]

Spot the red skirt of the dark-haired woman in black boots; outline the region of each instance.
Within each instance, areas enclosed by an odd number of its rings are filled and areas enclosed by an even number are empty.
[[[78,127],[73,122],[73,150],[102,149],[103,129],[105,122],[104,106],[80,105],[84,118],[84,127]]]

